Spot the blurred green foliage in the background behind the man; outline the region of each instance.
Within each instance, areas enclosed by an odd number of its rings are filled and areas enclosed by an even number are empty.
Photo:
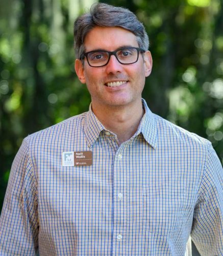
[[[143,97],[155,113],[208,138],[223,158],[220,0],[104,1],[137,14],[154,59]],[[88,110],[73,69],[72,26],[92,1],[1,0],[0,209],[13,158],[28,134]]]

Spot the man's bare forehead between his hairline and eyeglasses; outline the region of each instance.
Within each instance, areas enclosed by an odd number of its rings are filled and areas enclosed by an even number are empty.
[[[120,27],[95,27],[85,37],[86,51],[104,49],[114,51],[123,46],[138,47],[136,36]]]

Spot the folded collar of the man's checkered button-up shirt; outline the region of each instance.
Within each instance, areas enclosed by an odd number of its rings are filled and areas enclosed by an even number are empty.
[[[142,105],[145,110],[145,113],[142,117],[142,120],[139,124],[138,130],[135,136],[142,133],[144,139],[152,147],[156,148],[157,145],[157,125],[154,118],[154,114],[148,108],[144,99],[142,99]],[[94,115],[91,104],[89,106],[89,111],[86,114],[86,119],[84,123],[84,132],[86,135],[88,146],[91,147],[92,144],[96,141],[100,133],[106,130],[103,124],[97,119]]]

